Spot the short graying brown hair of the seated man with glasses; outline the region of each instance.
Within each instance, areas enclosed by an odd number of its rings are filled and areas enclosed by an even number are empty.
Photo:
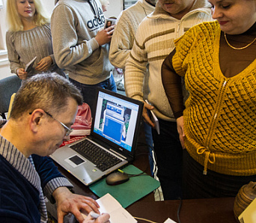
[[[76,100],[78,105],[83,103],[78,88],[64,77],[57,73],[40,73],[31,76],[22,82],[16,93],[10,118],[19,118],[25,112],[33,112],[34,109],[43,109],[53,114],[64,112],[68,98]]]

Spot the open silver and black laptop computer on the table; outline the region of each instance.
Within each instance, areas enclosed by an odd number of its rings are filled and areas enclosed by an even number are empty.
[[[99,88],[94,106],[91,135],[67,144],[51,155],[55,162],[86,186],[133,161],[144,105],[141,101]],[[92,151],[85,153],[83,150],[90,148],[91,144]],[[98,150],[107,153],[104,160],[97,155]],[[88,160],[91,156],[100,161],[91,162]],[[114,164],[105,161],[109,156],[115,159]]]

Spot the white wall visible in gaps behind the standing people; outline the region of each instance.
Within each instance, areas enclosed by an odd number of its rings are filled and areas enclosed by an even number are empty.
[[[13,75],[10,73],[10,64],[7,60],[7,49],[5,46],[5,33],[7,31],[5,9],[6,1],[2,0],[4,7],[0,8],[0,79]],[[55,0],[41,0],[49,13],[52,13]],[[122,0],[109,0],[108,11],[105,12],[106,17],[115,16],[118,17],[119,13],[123,10]]]

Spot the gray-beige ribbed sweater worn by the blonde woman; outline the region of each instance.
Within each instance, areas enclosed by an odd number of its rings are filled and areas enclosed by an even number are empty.
[[[49,70],[59,74],[63,73],[55,64],[49,24],[26,31],[7,31],[6,44],[11,73],[16,73],[18,68],[25,68],[25,64],[28,64],[35,56],[37,56],[37,59],[34,61],[33,67],[37,67],[37,63],[42,58],[50,56],[53,64],[49,67]],[[33,69],[28,76],[36,73],[40,72]]]

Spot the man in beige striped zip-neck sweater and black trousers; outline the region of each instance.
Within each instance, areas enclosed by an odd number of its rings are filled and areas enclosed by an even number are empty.
[[[211,20],[210,4],[204,0],[159,0],[156,9],[148,15],[135,35],[135,43],[125,67],[127,95],[143,100],[144,76],[149,69],[150,93],[144,103],[144,120],[154,126],[147,109],[153,109],[159,119],[160,134],[153,129],[153,145],[156,152],[157,177],[165,200],[182,196],[181,168],[182,147],[177,124],[165,95],[161,79],[162,61],[174,49],[177,39],[193,25]]]

